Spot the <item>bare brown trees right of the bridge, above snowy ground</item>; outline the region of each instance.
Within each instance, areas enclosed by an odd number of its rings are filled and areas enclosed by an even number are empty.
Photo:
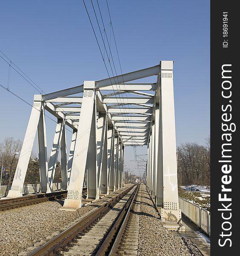
[[[210,186],[210,137],[206,145],[184,143],[177,147],[178,184]]]

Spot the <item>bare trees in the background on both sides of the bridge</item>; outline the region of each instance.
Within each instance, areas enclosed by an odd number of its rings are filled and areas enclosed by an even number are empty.
[[[0,172],[2,171],[2,186],[12,183],[17,167],[17,161],[22,142],[7,137],[0,143]],[[184,143],[177,147],[177,175],[178,184],[182,185],[210,185],[210,137],[206,145]],[[61,164],[57,161],[53,182],[61,182]],[[40,183],[39,161],[31,155],[24,184]]]

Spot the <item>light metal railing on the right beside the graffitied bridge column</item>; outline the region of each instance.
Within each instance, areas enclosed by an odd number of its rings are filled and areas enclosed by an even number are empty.
[[[210,236],[210,212],[183,198],[179,198],[182,213]]]

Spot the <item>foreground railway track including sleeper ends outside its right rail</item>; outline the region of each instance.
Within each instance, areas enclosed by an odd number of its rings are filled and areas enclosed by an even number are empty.
[[[63,232],[46,239],[44,244],[31,247],[24,255],[124,255],[119,254],[120,244],[131,237],[137,251],[138,230],[132,232],[132,228],[138,227],[139,219],[131,216],[131,209],[138,210],[139,205],[134,204],[138,188],[139,185],[129,187]]]

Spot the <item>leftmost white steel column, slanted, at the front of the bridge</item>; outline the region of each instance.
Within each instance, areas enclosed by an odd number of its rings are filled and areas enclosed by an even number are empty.
[[[37,132],[37,125],[40,118],[41,108],[42,105],[40,95],[34,95],[34,103],[31,109],[29,124],[23,140],[23,146],[17,163],[17,168],[14,174],[11,189],[9,190],[9,193],[6,198],[15,198],[23,196],[23,183],[25,180],[27,168],[29,165],[29,159],[31,156],[31,150]]]

